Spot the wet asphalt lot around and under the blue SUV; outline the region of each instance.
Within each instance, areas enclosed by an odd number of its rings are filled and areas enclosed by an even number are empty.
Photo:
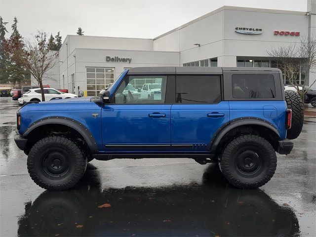
[[[316,236],[316,122],[305,121],[257,190],[192,159],[93,160],[75,189],[45,191],[13,140],[16,101],[0,98],[0,236]]]

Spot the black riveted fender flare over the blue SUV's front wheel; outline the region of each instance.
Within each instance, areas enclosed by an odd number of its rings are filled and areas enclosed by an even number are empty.
[[[91,153],[92,154],[98,153],[98,146],[95,142],[94,137],[90,133],[90,131],[82,123],[72,118],[67,118],[67,117],[41,118],[38,121],[32,123],[32,125],[23,133],[22,136],[27,137],[35,128],[38,128],[42,125],[47,125],[47,124],[62,124],[62,125],[66,125],[75,129],[84,138],[88,147],[90,148]]]

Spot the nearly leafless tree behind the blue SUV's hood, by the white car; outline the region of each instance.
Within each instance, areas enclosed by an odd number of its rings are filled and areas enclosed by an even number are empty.
[[[41,99],[45,101],[43,75],[56,65],[59,52],[50,50],[47,34],[41,31],[32,40],[24,40],[24,48],[11,50],[14,59],[25,66],[39,83]]]

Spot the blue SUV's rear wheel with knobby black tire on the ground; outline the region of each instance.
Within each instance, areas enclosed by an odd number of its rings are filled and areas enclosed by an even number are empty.
[[[266,184],[276,171],[273,146],[258,135],[242,135],[224,149],[219,165],[224,177],[241,189],[256,189]]]

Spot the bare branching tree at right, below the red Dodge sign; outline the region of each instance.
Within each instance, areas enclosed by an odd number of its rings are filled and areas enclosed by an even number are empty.
[[[273,46],[271,50],[267,51],[267,54],[278,62],[283,75],[296,88],[304,101],[307,90],[316,82],[316,79],[310,81],[309,87],[305,87],[304,80],[301,84],[302,90],[297,79],[301,73],[307,75],[316,69],[316,35],[302,36],[300,42],[297,43]]]

